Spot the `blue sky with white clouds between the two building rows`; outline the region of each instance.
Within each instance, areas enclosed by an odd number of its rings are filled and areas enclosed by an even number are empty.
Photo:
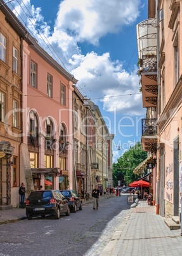
[[[147,18],[147,4],[148,0],[7,4],[39,44],[79,80],[82,95],[99,106],[110,133],[115,134],[114,162],[141,138],[140,119],[146,110],[136,75],[136,24]]]

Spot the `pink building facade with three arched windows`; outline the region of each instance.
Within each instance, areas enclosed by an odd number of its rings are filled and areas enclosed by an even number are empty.
[[[22,168],[32,172],[34,189],[72,188],[72,85],[77,80],[34,38],[30,41],[33,45],[23,43]]]

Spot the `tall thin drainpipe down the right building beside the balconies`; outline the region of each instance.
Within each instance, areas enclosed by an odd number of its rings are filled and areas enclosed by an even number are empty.
[[[160,110],[160,69],[159,69],[159,12],[158,12],[158,0],[155,0],[155,13],[156,13],[156,20],[157,20],[157,83],[158,83],[158,104],[157,104],[157,115],[159,115]],[[159,134],[159,131],[158,131]],[[158,135],[159,138],[159,135]],[[159,139],[158,139],[159,142]],[[158,160],[158,159],[157,159]],[[158,161],[157,161],[158,162]],[[157,204],[156,204],[156,214],[159,215],[159,203],[160,203],[160,164],[157,163]]]

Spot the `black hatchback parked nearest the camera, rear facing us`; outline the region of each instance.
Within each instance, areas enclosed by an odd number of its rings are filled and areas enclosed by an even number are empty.
[[[32,191],[26,201],[26,215],[30,220],[32,217],[45,217],[53,215],[60,218],[60,213],[70,215],[68,200],[59,190]]]

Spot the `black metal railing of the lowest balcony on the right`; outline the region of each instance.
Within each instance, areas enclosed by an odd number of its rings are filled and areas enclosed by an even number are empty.
[[[157,118],[143,118],[142,122],[142,136],[157,135]]]

